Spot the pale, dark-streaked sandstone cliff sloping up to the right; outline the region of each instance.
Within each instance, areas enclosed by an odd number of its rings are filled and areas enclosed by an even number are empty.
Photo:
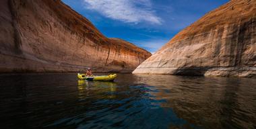
[[[256,1],[233,0],[179,32],[133,73],[256,76]]]

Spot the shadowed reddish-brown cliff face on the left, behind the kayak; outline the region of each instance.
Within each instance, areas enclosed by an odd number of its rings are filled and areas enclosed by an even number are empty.
[[[59,0],[0,1],[0,72],[131,72],[150,52],[103,36]]]

